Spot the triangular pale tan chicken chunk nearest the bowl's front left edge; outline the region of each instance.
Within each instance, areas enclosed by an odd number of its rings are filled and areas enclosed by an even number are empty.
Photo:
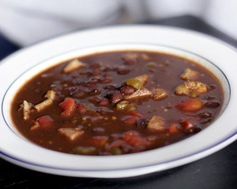
[[[64,135],[68,140],[74,142],[84,134],[80,128],[60,128],[58,132]]]

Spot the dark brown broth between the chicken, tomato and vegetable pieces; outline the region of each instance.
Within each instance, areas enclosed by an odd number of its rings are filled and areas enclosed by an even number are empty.
[[[149,60],[139,58],[134,65],[125,65],[125,61],[122,57],[128,53],[146,54],[149,56]],[[65,74],[63,73],[63,69],[68,63],[65,62],[37,74],[17,92],[11,107],[11,115],[16,128],[30,141],[52,150],[74,153],[74,148],[77,146],[93,146],[91,144],[91,138],[94,136],[108,136],[107,145],[112,143],[114,140],[121,139],[123,133],[131,130],[137,131],[142,137],[155,138],[155,142],[152,143],[152,145],[149,145],[146,149],[130,149],[122,152],[134,153],[137,151],[144,151],[165,146],[195,134],[196,131],[185,132],[182,130],[176,135],[171,135],[166,131],[158,133],[137,125],[127,126],[122,121],[123,117],[128,114],[127,112],[116,111],[114,106],[99,107],[89,101],[89,99],[94,96],[106,96],[108,91],[104,90],[105,86],[115,85],[116,87],[119,87],[127,79],[142,74],[149,75],[149,81],[146,84],[146,88],[152,89],[155,87],[162,87],[168,92],[168,98],[160,101],[154,101],[151,98],[142,98],[133,101],[137,104],[137,112],[141,113],[146,120],[149,120],[153,115],[159,115],[165,119],[167,129],[172,123],[180,123],[182,121],[189,120],[194,122],[198,129],[202,130],[213,122],[220,112],[221,105],[223,103],[223,91],[219,81],[211,72],[191,60],[174,55],[140,51],[92,54],[80,57],[79,60],[88,64],[89,67],[91,65],[96,67],[96,64],[101,64],[103,66],[106,65],[108,67],[107,71],[100,71],[97,76],[101,77],[102,81],[105,81],[106,78],[111,78],[112,82],[95,82],[92,85],[95,85],[96,89],[101,93],[98,95],[87,94],[85,97],[80,97],[80,95],[78,96],[78,91],[76,92],[75,89],[69,88],[82,86],[88,81],[93,83],[92,78],[95,77],[93,74],[96,73],[96,68],[92,71],[91,68],[86,67],[70,74]],[[151,69],[146,66],[148,62],[156,62],[157,69],[155,69],[155,71],[151,71]],[[118,66],[126,66],[130,72],[122,75],[118,74],[116,72]],[[175,106],[178,103],[190,99],[190,97],[178,96],[175,94],[175,88],[184,82],[180,79],[180,75],[186,68],[191,68],[199,72],[200,77],[198,78],[198,81],[201,81],[212,88],[208,91],[208,93],[201,95],[199,98],[205,102],[218,102],[220,106],[216,108],[204,107],[200,111],[190,113],[177,110]],[[84,90],[85,87],[81,88]],[[19,108],[23,100],[27,100],[32,104],[37,104],[45,99],[44,95],[49,89],[53,89],[57,93],[57,99],[53,105],[46,108],[42,112],[34,111],[30,114],[29,120],[23,120],[22,109]],[[62,110],[59,108],[59,103],[61,103],[66,97],[76,99],[79,103],[85,104],[91,111],[97,112],[103,117],[108,117],[109,120],[102,120],[96,123],[91,123],[90,121],[88,123],[82,122],[82,119],[85,116],[88,116],[89,119],[96,119],[97,115],[95,116],[93,113],[90,113],[90,115],[81,115],[78,112],[75,112],[70,119],[62,118]],[[211,113],[211,117],[206,118],[205,116],[201,116],[205,117],[201,118],[200,114],[206,112]],[[32,132],[30,128],[34,124],[35,120],[43,115],[50,115],[55,120],[54,124],[56,128],[80,127],[85,131],[85,133],[77,141],[70,142],[65,138],[65,136],[59,134],[57,129]],[[117,119],[112,120],[112,116],[116,116]],[[106,150],[105,146],[97,147],[97,152],[95,153],[95,155],[110,154],[111,153]]]

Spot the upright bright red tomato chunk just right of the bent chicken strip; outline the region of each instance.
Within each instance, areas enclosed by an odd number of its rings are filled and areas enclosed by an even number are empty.
[[[61,115],[63,117],[70,117],[76,110],[76,101],[73,98],[65,98],[59,106],[63,109]]]

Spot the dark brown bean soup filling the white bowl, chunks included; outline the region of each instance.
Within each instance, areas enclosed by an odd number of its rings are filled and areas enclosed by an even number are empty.
[[[166,146],[206,128],[220,112],[216,77],[157,52],[92,54],[51,67],[19,90],[11,115],[48,149],[119,155]]]

